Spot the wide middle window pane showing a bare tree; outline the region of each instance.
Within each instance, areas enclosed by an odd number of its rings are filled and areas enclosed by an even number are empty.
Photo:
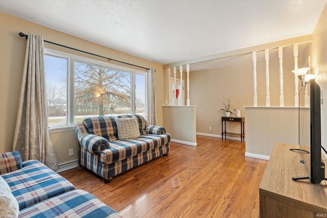
[[[75,115],[131,113],[131,73],[75,62]]]

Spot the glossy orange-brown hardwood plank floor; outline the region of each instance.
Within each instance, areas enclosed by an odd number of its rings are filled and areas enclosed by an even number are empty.
[[[123,217],[259,217],[267,161],[245,157],[245,143],[197,136],[104,184],[86,169],[60,173]]]

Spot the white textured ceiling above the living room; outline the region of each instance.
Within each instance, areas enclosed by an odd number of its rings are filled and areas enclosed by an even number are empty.
[[[325,3],[1,0],[0,11],[169,64],[312,34]]]

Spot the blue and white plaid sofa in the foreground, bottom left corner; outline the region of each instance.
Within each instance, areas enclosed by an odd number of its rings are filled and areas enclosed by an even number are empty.
[[[18,217],[121,217],[41,162],[22,162],[17,151],[0,154],[0,176],[18,202]]]

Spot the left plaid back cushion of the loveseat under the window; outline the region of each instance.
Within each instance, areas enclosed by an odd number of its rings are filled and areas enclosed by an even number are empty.
[[[99,135],[108,141],[118,140],[118,131],[115,116],[94,116],[83,120],[88,133]]]

